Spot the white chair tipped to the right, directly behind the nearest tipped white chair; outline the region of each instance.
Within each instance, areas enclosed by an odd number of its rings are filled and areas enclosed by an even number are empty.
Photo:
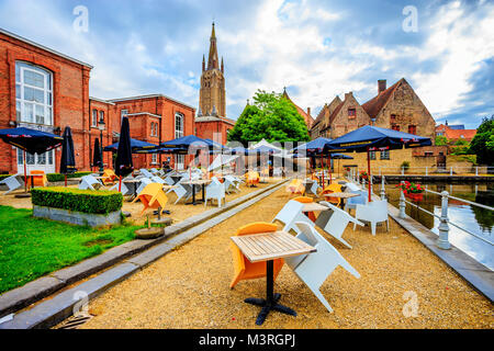
[[[321,212],[315,222],[316,226],[351,249],[351,245],[341,238],[341,236],[350,222],[359,226],[363,226],[363,223],[357,220],[341,208],[338,208],[326,201],[322,201],[319,204],[329,207],[330,210]]]

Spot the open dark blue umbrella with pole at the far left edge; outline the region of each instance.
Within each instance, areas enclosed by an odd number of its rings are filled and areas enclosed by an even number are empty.
[[[0,139],[24,151],[24,190],[27,191],[25,152],[44,154],[61,146],[61,136],[25,127],[0,129]]]

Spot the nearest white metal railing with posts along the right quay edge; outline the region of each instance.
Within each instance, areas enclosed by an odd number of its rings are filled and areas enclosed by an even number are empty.
[[[401,184],[403,185],[404,182],[401,182]],[[403,189],[401,189],[400,190],[400,205],[398,205],[398,207],[400,207],[398,217],[400,218],[406,218],[406,214],[405,214],[406,204],[409,204],[411,206],[414,206],[414,207],[416,207],[416,208],[418,208],[418,210],[420,210],[420,211],[423,211],[423,212],[425,212],[425,213],[427,213],[427,214],[438,218],[439,219],[439,226],[438,226],[439,238],[437,239],[437,246],[440,249],[448,250],[448,249],[451,248],[451,245],[449,242],[449,225],[452,225],[452,226],[457,227],[458,229],[460,229],[460,230],[462,230],[462,231],[464,231],[467,234],[470,234],[471,236],[474,236],[475,238],[478,238],[478,239],[480,239],[482,241],[485,241],[485,242],[487,242],[490,245],[494,245],[494,242],[487,240],[486,238],[484,238],[484,237],[482,237],[482,236],[480,236],[480,235],[478,235],[475,233],[472,233],[469,229],[465,229],[465,228],[459,226],[458,224],[454,224],[454,223],[450,222],[449,218],[448,218],[448,200],[452,199],[452,200],[460,201],[460,202],[463,202],[463,203],[467,203],[467,204],[470,204],[470,205],[473,205],[473,206],[476,206],[476,207],[480,207],[480,208],[483,208],[483,210],[487,210],[487,211],[494,211],[494,207],[491,207],[491,206],[487,206],[487,205],[483,205],[483,204],[479,204],[476,202],[468,201],[468,200],[464,200],[464,199],[451,196],[447,191],[444,191],[441,193],[438,193],[436,191],[428,190],[428,189],[425,189],[425,191],[441,196],[441,215],[438,216],[435,213],[431,213],[430,211],[427,211],[427,210],[418,206],[417,204],[407,201],[405,199],[405,194],[403,192]],[[381,185],[381,194],[383,192],[384,192],[384,183]]]

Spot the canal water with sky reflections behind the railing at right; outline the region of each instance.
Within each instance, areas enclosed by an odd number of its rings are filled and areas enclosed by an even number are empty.
[[[468,183],[468,184],[447,184],[447,183],[420,183],[427,189],[442,192],[447,191],[450,195],[464,199],[471,202],[494,206],[494,183]],[[400,190],[396,184],[386,184],[388,201],[398,208]],[[380,194],[381,184],[374,184],[374,194]],[[407,201],[412,202],[409,199]],[[440,216],[441,196],[425,192],[424,200],[417,203],[420,207]],[[457,200],[449,199],[448,218],[450,223],[468,229],[478,236],[494,242],[494,212],[470,205]],[[416,207],[406,205],[406,214],[433,233],[439,235],[439,218],[431,216]],[[449,240],[452,245],[473,257],[476,261],[494,270],[494,247],[474,236],[449,225]]]

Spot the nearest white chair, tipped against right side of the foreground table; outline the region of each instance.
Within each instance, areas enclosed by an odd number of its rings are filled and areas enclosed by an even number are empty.
[[[319,291],[321,285],[323,285],[338,265],[341,265],[356,278],[360,278],[360,274],[314,227],[306,223],[296,223],[296,226],[300,231],[296,237],[315,247],[317,251],[303,256],[289,257],[284,259],[284,262],[314,295],[316,295],[324,307],[332,313],[332,306],[329,306],[329,303]]]

